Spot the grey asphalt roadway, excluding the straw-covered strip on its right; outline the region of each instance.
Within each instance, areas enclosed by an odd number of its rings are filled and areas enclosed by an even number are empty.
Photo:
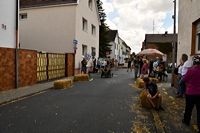
[[[76,82],[72,88],[49,90],[0,107],[1,133],[132,132],[138,112],[130,84],[133,72],[113,71],[112,78]],[[138,101],[138,100],[137,100]],[[145,110],[144,110],[145,111]],[[151,114],[151,131],[156,132]]]

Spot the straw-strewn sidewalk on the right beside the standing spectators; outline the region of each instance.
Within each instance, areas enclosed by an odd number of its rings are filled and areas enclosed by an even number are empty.
[[[184,98],[175,98],[176,88],[171,87],[172,76],[169,74],[167,82],[159,82],[158,88],[163,96],[163,107],[165,111],[157,114],[166,133],[197,133],[197,111],[193,109],[190,126],[182,123],[185,112]]]

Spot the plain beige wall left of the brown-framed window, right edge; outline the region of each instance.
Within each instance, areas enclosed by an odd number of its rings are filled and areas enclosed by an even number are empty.
[[[179,0],[178,17],[177,63],[179,64],[183,53],[191,55],[192,23],[200,18],[200,1]]]

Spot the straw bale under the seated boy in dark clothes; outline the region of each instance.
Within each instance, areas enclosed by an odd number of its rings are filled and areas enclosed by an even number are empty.
[[[158,98],[155,98],[152,100],[154,105],[156,106],[156,104],[158,103]],[[148,107],[148,108],[152,108],[153,106],[151,105],[149,99],[147,98],[147,91],[141,91],[140,93],[140,107]]]

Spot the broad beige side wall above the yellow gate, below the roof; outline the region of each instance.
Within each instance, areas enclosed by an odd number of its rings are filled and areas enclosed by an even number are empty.
[[[20,48],[52,53],[73,53],[75,5],[21,9]]]

